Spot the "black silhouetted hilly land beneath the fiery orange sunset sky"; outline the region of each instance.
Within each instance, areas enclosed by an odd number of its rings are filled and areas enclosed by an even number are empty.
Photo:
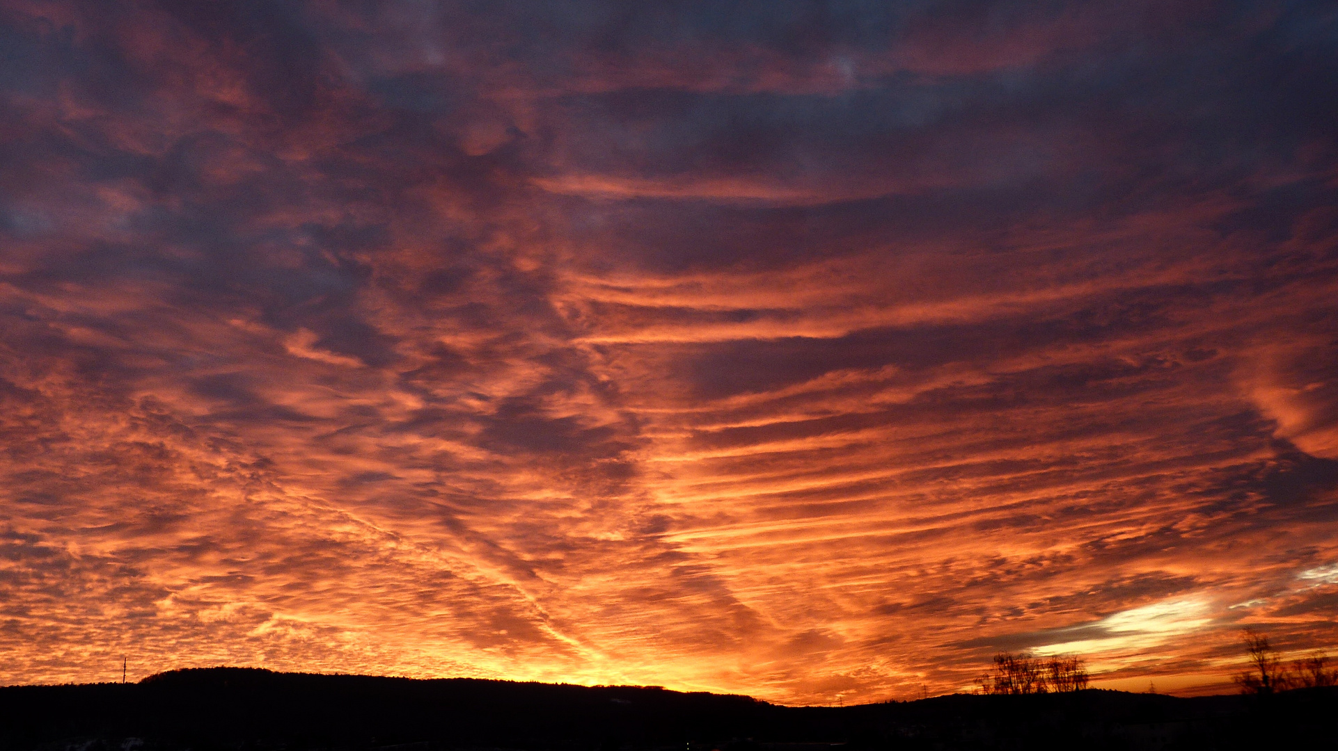
[[[186,669],[0,688],[0,751],[1331,748],[1338,688],[780,707],[662,688]]]

